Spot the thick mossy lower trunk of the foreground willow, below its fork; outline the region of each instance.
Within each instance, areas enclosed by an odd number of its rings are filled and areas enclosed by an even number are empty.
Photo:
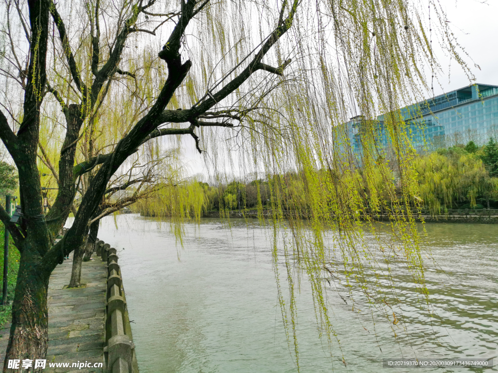
[[[41,368],[34,369],[34,361],[45,359],[47,354],[47,289],[50,272],[41,273],[29,261],[21,259],[12,303],[12,326],[3,363],[4,373],[7,372],[8,361],[13,359],[21,362],[23,359],[33,360],[33,370],[30,372],[42,373]],[[21,372],[20,368],[19,364],[19,370],[14,372]],[[10,369],[8,371],[13,372]]]

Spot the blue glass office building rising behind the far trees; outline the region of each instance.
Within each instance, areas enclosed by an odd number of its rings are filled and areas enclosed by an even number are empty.
[[[498,135],[498,86],[475,84],[417,102],[401,109],[405,130],[412,145],[421,150],[427,146],[447,147],[473,140],[478,145]],[[353,151],[362,152],[362,116],[347,123]],[[378,141],[389,144],[383,115],[378,120]],[[379,144],[380,145],[380,144]]]

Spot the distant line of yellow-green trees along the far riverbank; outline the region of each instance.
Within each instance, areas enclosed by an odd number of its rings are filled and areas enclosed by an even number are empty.
[[[376,205],[351,205],[351,209],[364,209],[375,212],[382,206],[389,207],[394,199],[403,200],[401,188],[390,190],[382,185],[381,173],[386,170],[390,178],[396,180],[397,173],[392,161],[382,157],[367,173],[365,169],[345,171],[352,186],[352,193],[373,197],[376,194],[379,203]],[[432,213],[445,213],[448,209],[482,209],[498,208],[498,142],[491,138],[479,147],[473,141],[466,145],[455,145],[440,148],[428,154],[416,155],[413,159],[416,171],[416,190],[410,196],[412,200],[405,204],[429,208]],[[318,171],[316,178],[332,182],[337,175],[331,170]],[[309,176],[308,176],[309,177]],[[344,178],[344,175],[341,176]],[[182,210],[184,217],[200,217],[207,211],[234,211],[271,209],[271,185],[280,183],[282,193],[288,194],[288,206],[306,213],[311,210],[306,199],[306,178],[299,172],[288,172],[283,175],[267,176],[266,179],[249,181],[234,180],[216,186],[199,181],[189,181],[183,185],[164,186],[163,195],[140,202],[135,211],[154,216],[172,216]],[[400,184],[398,180],[397,185]],[[174,188],[174,192],[173,192]],[[183,192],[179,192],[182,189]],[[301,190],[302,193],[298,191]],[[301,194],[302,198],[297,195]],[[416,200],[416,201],[415,201]],[[333,201],[330,200],[330,204]]]

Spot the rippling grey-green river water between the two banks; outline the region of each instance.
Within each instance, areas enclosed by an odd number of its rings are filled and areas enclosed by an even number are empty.
[[[235,220],[229,230],[219,219],[202,219],[186,225],[184,249],[177,249],[167,223],[138,215],[116,219],[103,219],[99,238],[118,249],[141,373],[296,372],[263,228]],[[353,311],[340,292],[327,291],[342,349],[334,343],[331,357],[327,342],[318,338],[303,280],[297,295],[301,372],[379,372],[383,358],[402,357],[494,358],[498,364],[498,226],[426,224],[426,230],[423,245],[444,270],[427,263],[427,286],[440,319],[430,322],[403,273],[394,276],[397,297],[406,304],[408,336],[385,318],[372,318],[368,309]]]

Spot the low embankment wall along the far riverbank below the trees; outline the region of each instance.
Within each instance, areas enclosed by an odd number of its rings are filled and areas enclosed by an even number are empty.
[[[479,224],[498,224],[498,210],[497,209],[482,209],[482,210],[448,210],[446,214],[431,215],[428,210],[413,211],[414,218],[418,222],[426,223],[479,223]],[[262,216],[269,218],[272,215],[271,210],[263,210]],[[284,212],[284,217],[288,214]],[[388,213],[375,214],[371,216],[374,221],[389,221]],[[207,211],[202,217],[220,218],[220,211]],[[229,211],[230,218],[257,218],[257,210],[245,211]],[[305,216],[301,216],[305,218]],[[360,215],[360,219],[364,217]]]

